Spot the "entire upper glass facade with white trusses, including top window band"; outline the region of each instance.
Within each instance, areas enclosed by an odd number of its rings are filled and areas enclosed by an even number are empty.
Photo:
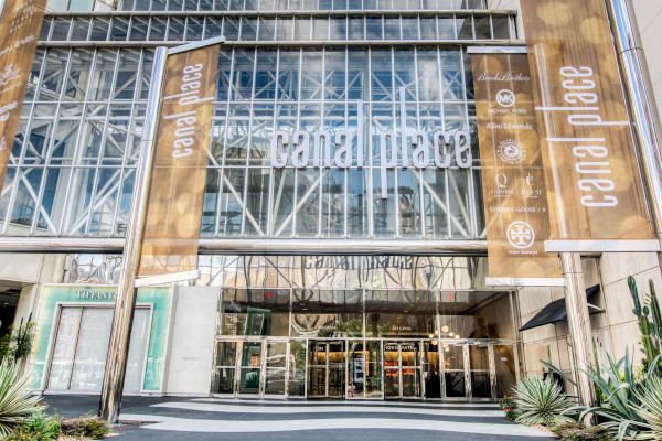
[[[225,35],[204,236],[484,237],[476,137],[469,164],[398,162],[381,174],[380,133],[474,133],[465,47],[513,39],[510,13],[482,0],[97,3],[50,2],[70,13],[44,20],[1,235],[122,237],[153,46]],[[280,131],[312,143],[317,132],[360,129],[365,168],[269,163]]]

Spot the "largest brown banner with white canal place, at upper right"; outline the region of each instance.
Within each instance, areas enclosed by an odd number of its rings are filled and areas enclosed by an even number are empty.
[[[605,1],[521,4],[551,190],[545,249],[656,250]]]

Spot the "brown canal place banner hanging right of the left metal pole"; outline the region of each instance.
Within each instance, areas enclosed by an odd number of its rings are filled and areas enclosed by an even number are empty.
[[[168,56],[139,276],[197,269],[218,52]]]

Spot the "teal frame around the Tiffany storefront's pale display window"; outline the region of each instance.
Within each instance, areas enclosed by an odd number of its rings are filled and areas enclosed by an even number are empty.
[[[42,389],[45,386],[45,369],[51,345],[54,344],[56,332],[54,327],[57,323],[60,306],[108,304],[109,308],[113,308],[116,290],[116,287],[81,284],[47,284],[42,287],[32,358],[32,387],[34,389]],[[142,390],[159,392],[161,391],[166,370],[172,289],[168,287],[140,288],[137,303],[149,305],[152,310]]]

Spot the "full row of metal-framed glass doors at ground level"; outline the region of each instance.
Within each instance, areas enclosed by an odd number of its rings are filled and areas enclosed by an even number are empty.
[[[493,401],[514,383],[496,369],[509,355],[511,345],[458,340],[220,338],[214,394]]]

